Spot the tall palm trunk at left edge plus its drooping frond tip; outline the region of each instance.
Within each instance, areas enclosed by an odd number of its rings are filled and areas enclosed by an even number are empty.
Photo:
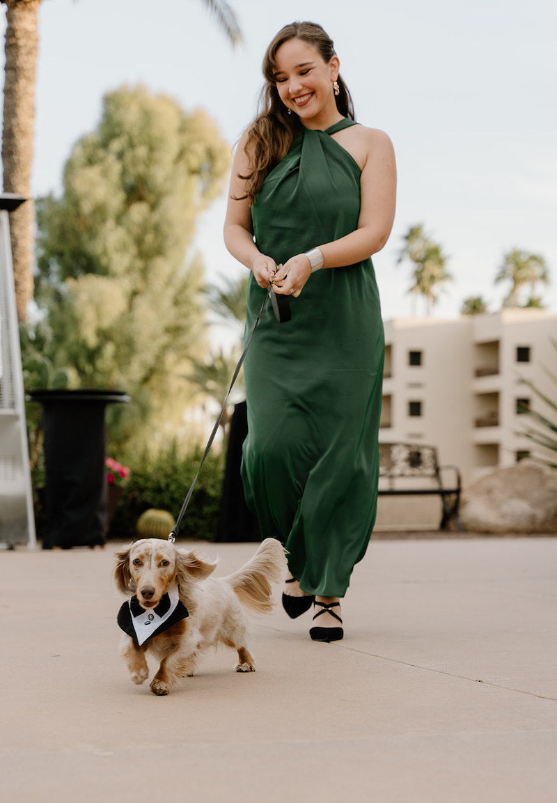
[[[33,295],[31,246],[33,202],[30,177],[35,123],[35,75],[39,49],[38,11],[42,0],[0,0],[6,6],[6,81],[2,162],[4,192],[28,200],[10,213],[11,247],[14,257],[15,297],[18,319],[25,320],[27,302]],[[234,46],[242,33],[234,10],[226,0],[202,0]]]

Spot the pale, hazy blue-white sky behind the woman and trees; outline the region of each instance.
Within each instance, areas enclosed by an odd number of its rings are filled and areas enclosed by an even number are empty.
[[[392,139],[396,218],[373,258],[385,319],[424,314],[397,264],[409,226],[423,223],[448,255],[453,281],[436,318],[467,296],[490,311],[503,256],[543,255],[543,291],[557,312],[557,4],[555,0],[230,0],[245,44],[233,49],[201,0],[43,0],[39,10],[35,197],[59,194],[71,147],[96,128],[105,92],[145,84],[205,108],[230,149],[254,116],[270,39],[296,19],[335,41],[356,119]],[[4,9],[5,6],[2,6]],[[2,13],[2,34],[5,31]],[[222,242],[226,190],[200,219],[195,247],[207,278],[246,268]]]

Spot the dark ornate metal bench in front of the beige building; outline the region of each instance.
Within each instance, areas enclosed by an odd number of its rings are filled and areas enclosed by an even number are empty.
[[[451,482],[448,473],[452,472]],[[379,495],[439,495],[443,506],[440,530],[458,519],[461,475],[456,466],[439,466],[435,446],[415,443],[379,444]]]

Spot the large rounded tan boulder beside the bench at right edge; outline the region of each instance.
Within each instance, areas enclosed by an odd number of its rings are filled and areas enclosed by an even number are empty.
[[[522,460],[466,487],[460,519],[470,532],[557,533],[557,471]]]

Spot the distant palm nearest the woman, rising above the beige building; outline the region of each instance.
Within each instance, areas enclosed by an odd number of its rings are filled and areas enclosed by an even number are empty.
[[[398,263],[412,264],[413,285],[409,292],[425,298],[426,312],[430,315],[437,304],[437,288],[453,278],[446,268],[447,257],[442,247],[425,233],[422,223],[410,226],[403,241]]]

